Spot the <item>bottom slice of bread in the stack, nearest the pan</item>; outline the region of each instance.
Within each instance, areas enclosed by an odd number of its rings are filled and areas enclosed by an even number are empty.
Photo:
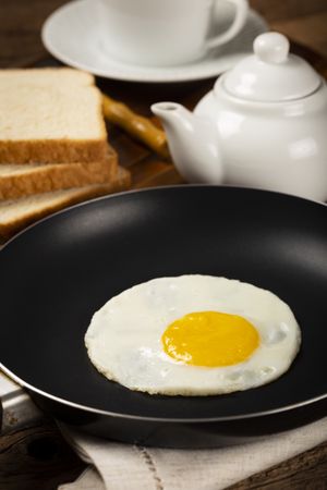
[[[116,177],[106,184],[93,184],[20,199],[0,201],[0,240],[3,242],[28,224],[83,200],[128,188],[131,174],[119,167]]]

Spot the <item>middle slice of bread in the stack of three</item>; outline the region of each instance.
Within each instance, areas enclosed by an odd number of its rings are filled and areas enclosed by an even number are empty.
[[[16,199],[33,194],[87,184],[104,184],[114,179],[118,157],[108,145],[106,160],[78,163],[0,164],[0,199]]]

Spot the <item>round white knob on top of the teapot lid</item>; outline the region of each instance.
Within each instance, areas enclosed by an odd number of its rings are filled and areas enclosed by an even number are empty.
[[[280,64],[288,59],[290,42],[282,34],[265,33],[255,38],[253,49],[259,60]]]

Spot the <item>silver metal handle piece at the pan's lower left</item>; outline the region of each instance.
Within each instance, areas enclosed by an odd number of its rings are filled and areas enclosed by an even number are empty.
[[[0,370],[0,433],[8,434],[41,418],[43,413],[24,389]]]

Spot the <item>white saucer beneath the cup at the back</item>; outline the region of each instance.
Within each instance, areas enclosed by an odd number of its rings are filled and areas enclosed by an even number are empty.
[[[126,64],[110,58],[100,48],[94,0],[77,0],[56,10],[45,22],[41,38],[47,50],[60,61],[97,76],[130,82],[185,82],[218,75],[252,52],[254,38],[266,30],[266,22],[253,10],[242,32],[230,42],[193,63],[153,68]],[[216,26],[223,30],[233,12],[219,2]],[[219,21],[218,21],[219,17]]]

